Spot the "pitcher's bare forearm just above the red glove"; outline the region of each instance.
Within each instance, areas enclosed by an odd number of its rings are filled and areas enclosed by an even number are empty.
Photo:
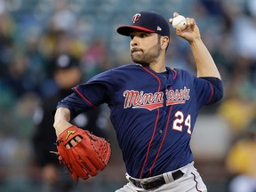
[[[69,121],[70,121],[69,109],[58,108],[54,116],[54,124],[53,124],[57,137],[60,135],[61,132],[64,132],[64,130],[66,130],[68,127],[73,125],[73,124],[70,124]]]

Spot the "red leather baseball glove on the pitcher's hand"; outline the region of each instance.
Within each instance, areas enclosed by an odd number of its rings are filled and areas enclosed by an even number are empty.
[[[87,180],[97,175],[107,166],[111,156],[111,147],[107,140],[76,126],[60,133],[57,149],[60,164],[68,168],[74,180]]]

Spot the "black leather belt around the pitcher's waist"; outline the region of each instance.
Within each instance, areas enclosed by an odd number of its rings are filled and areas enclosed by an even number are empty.
[[[178,180],[180,179],[182,176],[184,175],[183,172],[181,172],[180,170],[172,172],[172,178],[173,180]],[[153,188],[159,188],[161,186],[163,186],[164,184],[166,184],[165,180],[164,180],[164,176],[161,175],[158,178],[152,180],[152,181],[139,181],[139,180],[134,180],[132,178],[129,178],[129,180],[133,183],[134,186],[136,186],[137,188],[144,188],[146,190],[149,189],[153,189]]]

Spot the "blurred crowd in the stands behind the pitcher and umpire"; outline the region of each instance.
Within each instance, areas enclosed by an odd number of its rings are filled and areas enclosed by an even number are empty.
[[[161,4],[154,0],[0,0],[1,191],[20,191],[17,188],[34,191],[42,184],[31,140],[40,121],[37,109],[61,89],[54,78],[56,58],[67,54],[79,60],[83,82],[108,68],[129,63],[129,39],[119,37],[116,26],[127,24],[134,13],[146,8],[165,17],[177,11],[196,18],[225,87],[224,99],[202,112],[221,116],[228,124],[230,146],[222,159],[227,188],[222,191],[256,190],[256,1],[159,2]],[[195,70],[188,44],[174,33],[172,30],[167,65]],[[115,144],[108,109],[103,107],[102,111],[100,124],[104,124],[103,129]],[[118,147],[114,148],[113,166],[122,167]],[[101,180],[109,188],[110,184],[118,188],[115,184],[122,186],[124,182],[120,179],[123,169],[114,174],[109,168],[96,182]],[[93,188],[93,183],[90,184]],[[91,191],[97,191],[95,188]]]

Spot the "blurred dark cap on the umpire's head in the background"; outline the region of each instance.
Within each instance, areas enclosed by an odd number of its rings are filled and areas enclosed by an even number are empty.
[[[55,70],[79,67],[80,65],[79,60],[75,56],[66,53],[56,56],[52,63]]]

